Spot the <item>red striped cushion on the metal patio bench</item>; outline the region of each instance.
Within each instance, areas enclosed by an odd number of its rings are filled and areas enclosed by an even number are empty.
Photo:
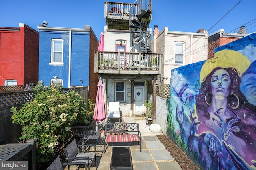
[[[138,135],[107,135],[106,142],[136,142],[140,141]]]

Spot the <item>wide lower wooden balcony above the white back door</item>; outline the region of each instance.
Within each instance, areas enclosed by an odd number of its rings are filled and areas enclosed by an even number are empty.
[[[113,77],[152,78],[161,72],[162,54],[95,51],[94,72]]]

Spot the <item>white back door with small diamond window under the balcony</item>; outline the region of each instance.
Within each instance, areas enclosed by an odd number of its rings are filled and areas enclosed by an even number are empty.
[[[144,87],[134,87],[134,114],[143,114]]]

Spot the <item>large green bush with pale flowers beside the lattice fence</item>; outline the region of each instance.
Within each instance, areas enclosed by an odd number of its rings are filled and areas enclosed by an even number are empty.
[[[12,107],[13,123],[22,125],[22,137],[26,141],[38,138],[37,163],[50,161],[56,151],[70,137],[73,123],[88,123],[88,114],[82,97],[74,91],[62,92],[58,85],[35,86],[34,100],[24,104],[20,110]]]

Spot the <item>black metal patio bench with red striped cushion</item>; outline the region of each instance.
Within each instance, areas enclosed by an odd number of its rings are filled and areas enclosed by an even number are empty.
[[[138,143],[141,152],[141,134],[138,123],[108,123],[104,131],[104,153],[108,143],[123,143],[131,145]]]

